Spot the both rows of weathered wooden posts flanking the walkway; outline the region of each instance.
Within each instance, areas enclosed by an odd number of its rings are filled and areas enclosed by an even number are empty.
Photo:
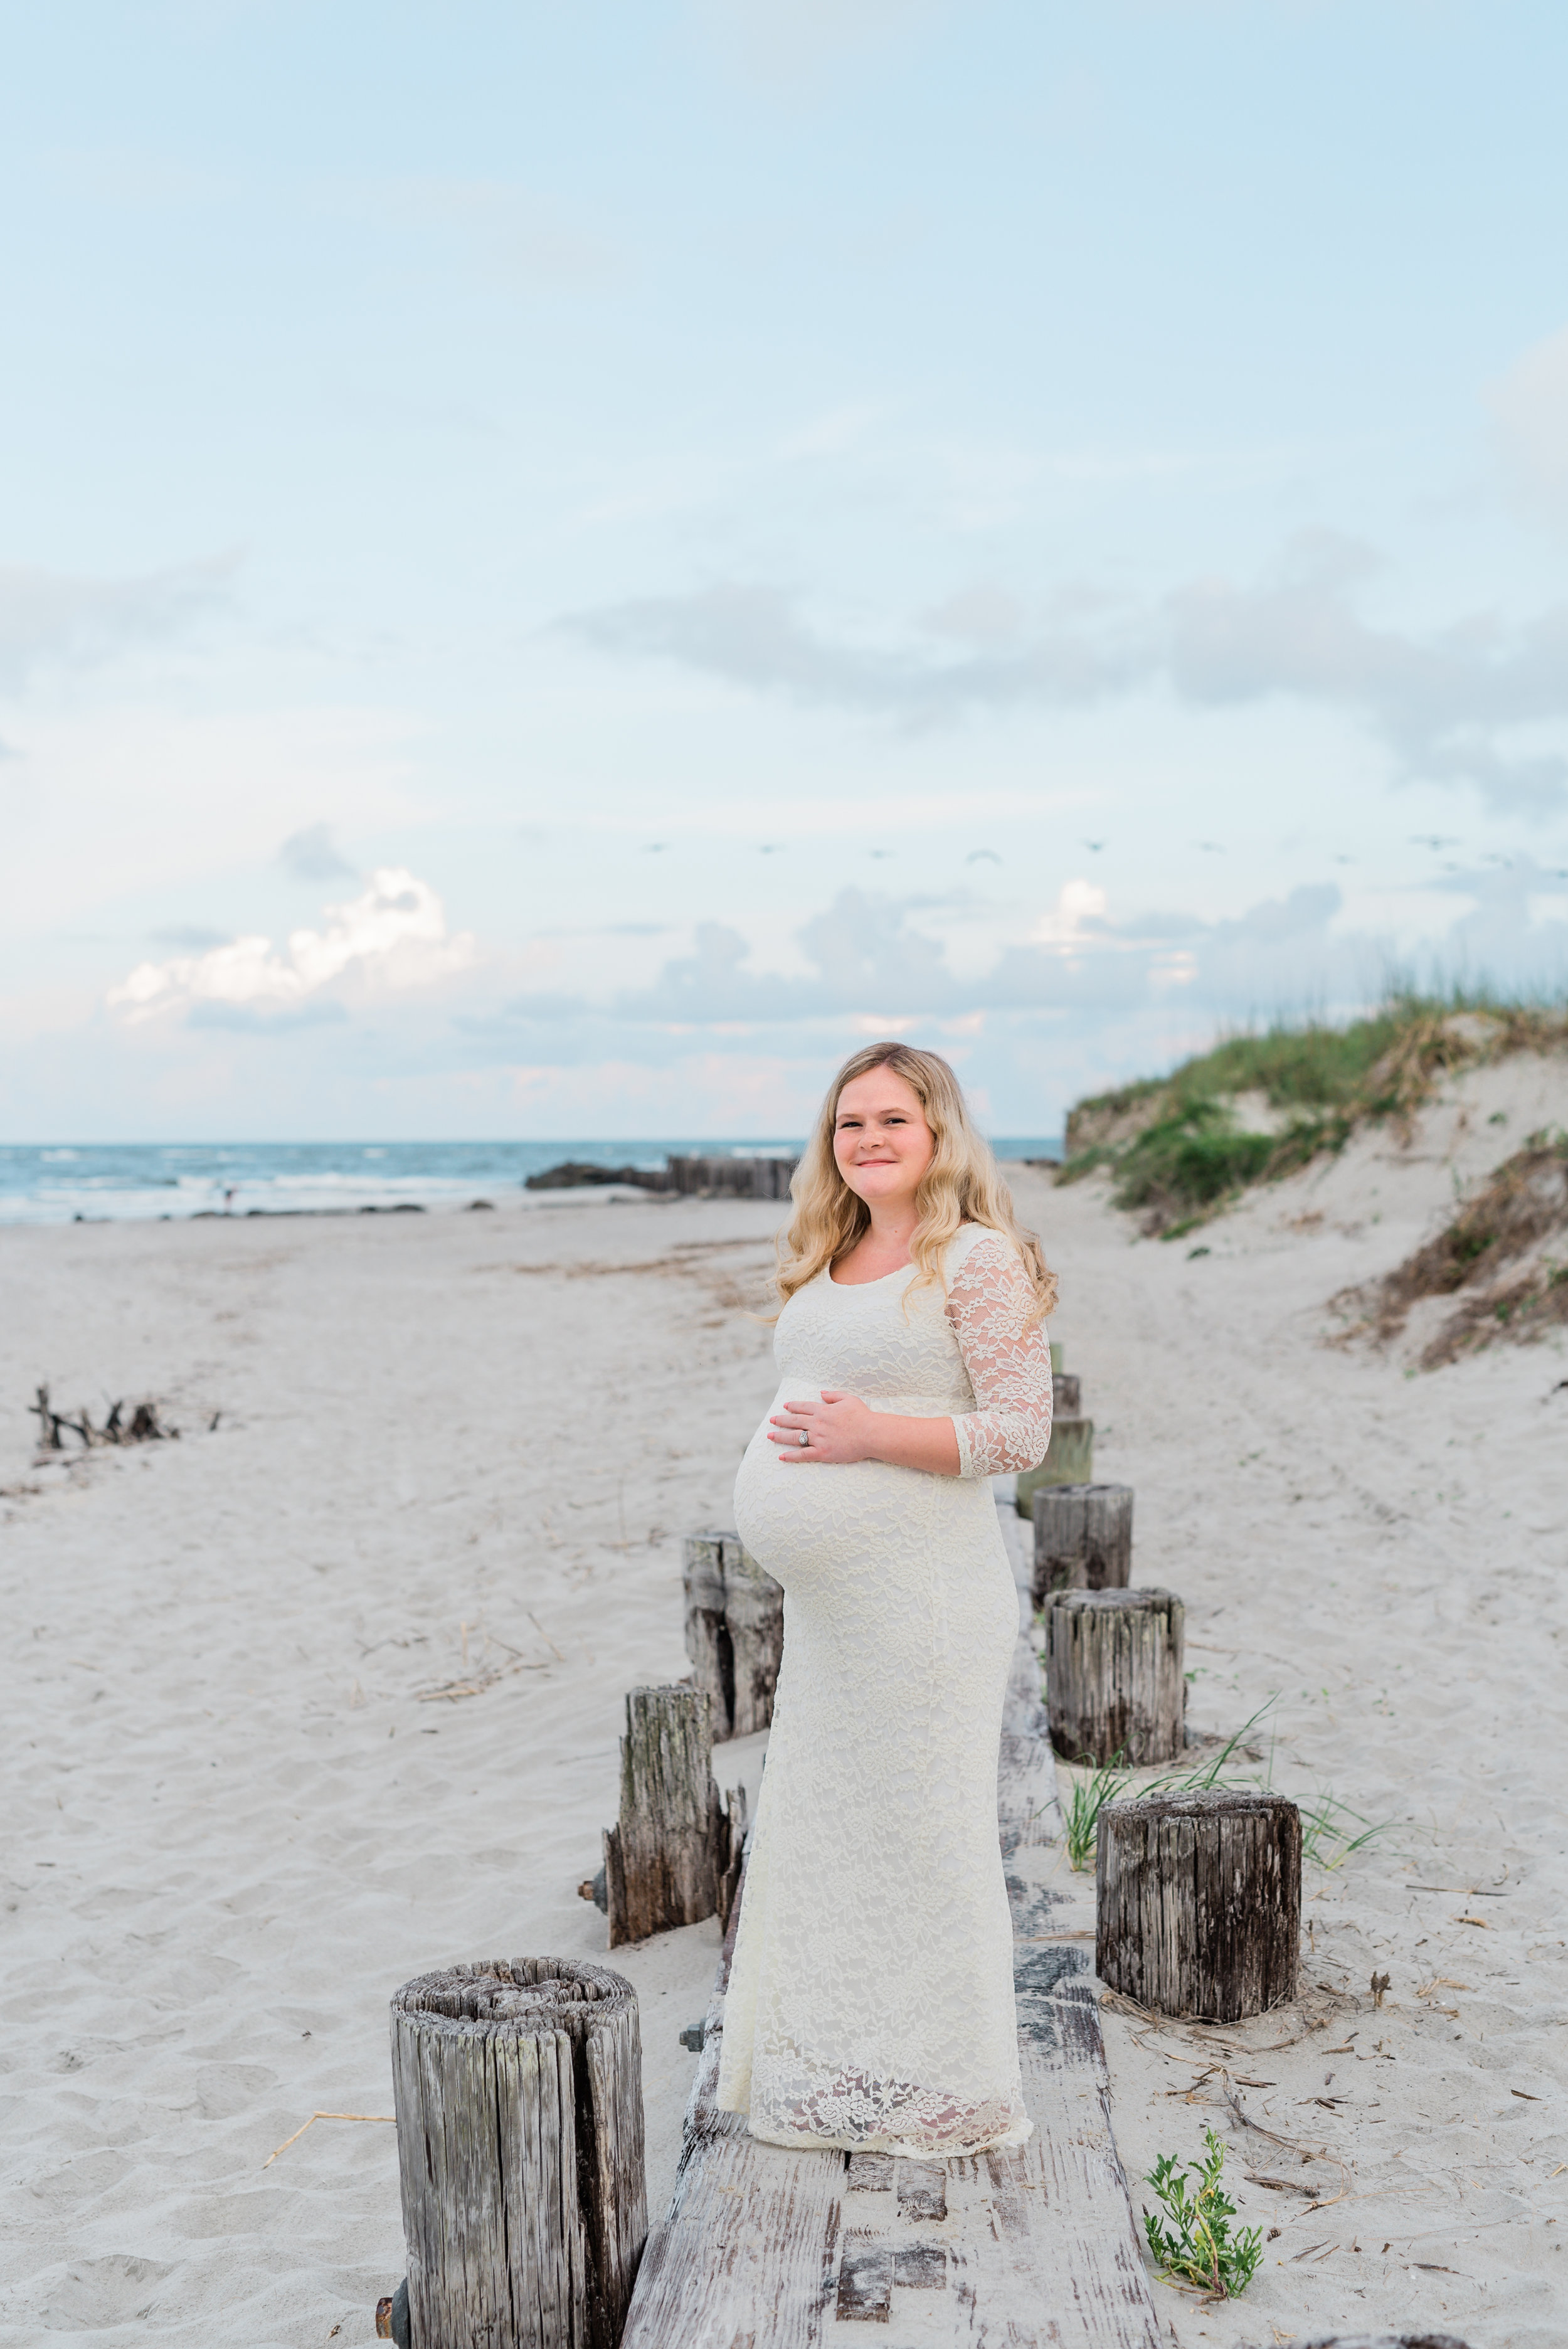
[[[1134,1496],[1091,1482],[1094,1428],[1066,1374],[1056,1409],[1063,1440],[1019,1480],[1016,1503],[1033,1520],[1052,1745],[1068,1762],[1171,1764],[1185,1741],[1183,1604],[1131,1586]],[[725,1532],[692,1534],[683,1569],[692,1670],[629,1691],[620,1816],[599,1877],[580,1886],[606,1910],[610,1947],[728,1921],[746,1799],[718,1792],[714,1743],[772,1722],[779,1586]],[[1298,1943],[1296,1804],[1199,1788],[1101,1811],[1108,1987],[1162,2013],[1239,2020],[1296,1994]],[[648,2234],[631,1985],[580,1959],[420,1976],[392,2001],[392,2079],[408,2276],[380,2302],[378,2335],[404,2349],[615,2349]]]

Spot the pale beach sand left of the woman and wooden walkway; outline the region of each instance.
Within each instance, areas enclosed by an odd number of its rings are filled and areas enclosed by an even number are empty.
[[[577,1882],[624,1689],[688,1668],[678,1534],[725,1522],[772,1393],[730,1297],[775,1214],[0,1231],[0,1393],[150,1388],[185,1431],[31,1475],[7,1407],[0,2340],[371,2337],[392,2128],[263,2161],[390,2112],[399,1980],[603,1957]],[[418,1703],[465,1623],[467,1680],[521,1670]],[[716,1945],[617,1952],[660,2203]]]

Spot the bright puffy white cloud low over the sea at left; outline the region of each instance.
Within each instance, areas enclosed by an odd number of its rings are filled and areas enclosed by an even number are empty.
[[[437,893],[399,864],[373,871],[364,897],[324,911],[326,926],[293,930],[284,954],[270,937],[235,937],[204,954],[138,963],[110,987],[108,1008],[127,1019],[200,1005],[289,1012],[333,987],[357,996],[406,994],[474,963],[472,935],[448,937]]]

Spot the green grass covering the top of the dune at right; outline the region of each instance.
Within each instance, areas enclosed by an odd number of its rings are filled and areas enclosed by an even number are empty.
[[[1368,1120],[1408,1130],[1446,1071],[1507,1052],[1568,1045],[1568,1001],[1519,1001],[1488,989],[1390,994],[1343,1027],[1279,1022],[1223,1036],[1167,1078],[1091,1095],[1068,1113],[1056,1182],[1094,1167],[1148,1233],[1181,1238],[1256,1182],[1277,1182],[1322,1151],[1340,1151]],[[1244,1095],[1268,1109],[1268,1132],[1237,1116]]]

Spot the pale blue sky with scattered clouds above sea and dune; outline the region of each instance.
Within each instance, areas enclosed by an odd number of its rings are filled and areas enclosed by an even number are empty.
[[[0,1132],[1568,975],[1568,16],[0,5]]]

